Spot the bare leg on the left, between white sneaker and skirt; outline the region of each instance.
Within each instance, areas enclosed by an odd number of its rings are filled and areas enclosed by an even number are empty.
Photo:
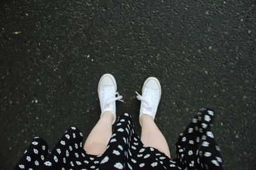
[[[84,143],[84,150],[91,155],[100,155],[105,152],[112,135],[113,114],[106,111],[93,127]]]

